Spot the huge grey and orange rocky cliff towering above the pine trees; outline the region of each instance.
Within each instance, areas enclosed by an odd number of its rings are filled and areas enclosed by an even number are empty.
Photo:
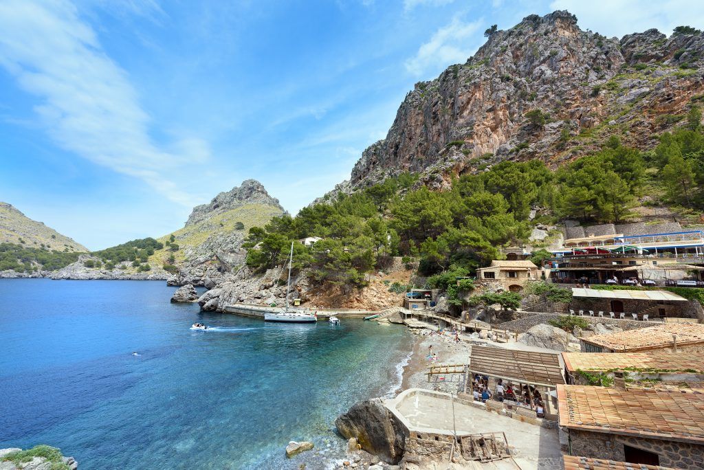
[[[612,134],[648,148],[704,99],[704,34],[695,30],[608,38],[555,11],[486,35],[467,62],[415,85],[386,139],[363,152],[336,192],[401,172],[441,189],[502,160],[556,166]]]

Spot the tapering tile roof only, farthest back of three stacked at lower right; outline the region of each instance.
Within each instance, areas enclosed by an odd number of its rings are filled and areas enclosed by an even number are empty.
[[[649,328],[589,336],[581,338],[581,341],[615,352],[627,352],[667,348],[672,346],[673,334],[677,334],[678,345],[704,343],[704,325],[696,323],[665,323]]]

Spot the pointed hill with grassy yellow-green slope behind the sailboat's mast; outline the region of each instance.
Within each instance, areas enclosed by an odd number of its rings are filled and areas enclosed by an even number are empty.
[[[173,255],[180,272],[172,284],[217,281],[222,274],[244,265],[246,250],[241,244],[247,231],[263,227],[272,217],[285,212],[260,182],[247,179],[241,186],[218,194],[210,203],[196,206],[182,229],[158,239],[168,249],[155,253],[149,261],[161,266]]]

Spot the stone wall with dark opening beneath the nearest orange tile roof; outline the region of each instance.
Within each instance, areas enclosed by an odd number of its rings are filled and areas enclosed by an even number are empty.
[[[571,455],[594,459],[611,459],[624,462],[624,444],[660,456],[660,465],[674,469],[701,469],[704,462],[704,445],[679,443],[641,437],[618,436],[570,429]]]

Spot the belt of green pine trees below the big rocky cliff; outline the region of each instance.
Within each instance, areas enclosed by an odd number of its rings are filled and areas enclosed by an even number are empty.
[[[296,217],[274,217],[263,228],[251,228],[244,243],[247,264],[255,271],[284,265],[291,241],[318,236],[322,241],[312,246],[294,244],[294,268],[310,268],[313,279],[363,286],[379,260],[401,255],[419,260],[429,286],[447,290],[455,278],[499,259],[499,247],[527,241],[532,208],[541,208],[541,220],[619,223],[633,216],[646,184],[670,188],[672,201],[700,204],[704,135],[698,119],[692,108],[684,127],[663,134],[646,153],[612,136],[600,150],[554,171],[542,160],[503,161],[455,177],[446,191],[417,187],[417,177],[401,174],[352,194],[340,192]],[[680,171],[675,181],[667,165],[691,172]],[[540,265],[550,257],[539,250],[534,260]],[[551,300],[569,301],[567,293],[546,289]]]

